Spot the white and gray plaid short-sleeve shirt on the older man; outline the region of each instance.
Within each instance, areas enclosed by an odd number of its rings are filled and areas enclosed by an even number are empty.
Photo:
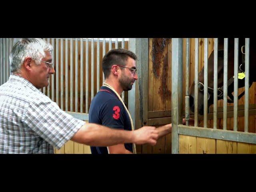
[[[22,77],[0,86],[0,153],[53,153],[84,124]]]

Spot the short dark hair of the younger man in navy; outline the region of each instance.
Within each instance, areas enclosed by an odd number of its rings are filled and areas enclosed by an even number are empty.
[[[102,70],[104,72],[105,78],[108,78],[110,75],[110,69],[112,65],[126,65],[126,61],[128,57],[133,58],[134,60],[137,59],[137,56],[126,49],[112,49],[106,53],[106,55],[102,59]]]

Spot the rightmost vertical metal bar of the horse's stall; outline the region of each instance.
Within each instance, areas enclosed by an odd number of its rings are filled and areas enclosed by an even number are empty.
[[[245,82],[244,82],[244,132],[248,132],[249,118],[249,70],[250,70],[250,38],[245,38]]]

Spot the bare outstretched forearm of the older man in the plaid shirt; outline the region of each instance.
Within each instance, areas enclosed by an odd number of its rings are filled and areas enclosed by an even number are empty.
[[[71,139],[90,146],[112,146],[134,142],[132,131],[115,130],[98,124],[86,123]]]

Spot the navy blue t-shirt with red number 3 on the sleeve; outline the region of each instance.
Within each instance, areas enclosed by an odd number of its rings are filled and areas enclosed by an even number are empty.
[[[132,130],[128,113],[116,94],[102,86],[92,99],[89,109],[89,123],[96,123],[114,129]],[[124,144],[132,152],[132,143]],[[107,147],[90,146],[92,154],[108,154]]]

